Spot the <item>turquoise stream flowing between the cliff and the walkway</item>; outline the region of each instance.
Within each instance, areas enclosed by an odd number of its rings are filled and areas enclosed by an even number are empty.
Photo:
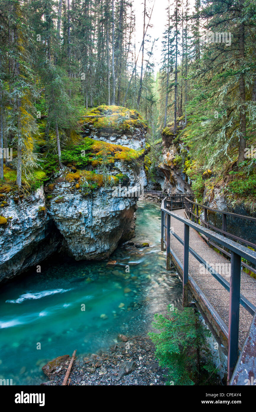
[[[109,348],[118,333],[147,331],[149,286],[166,273],[165,253],[159,205],[140,201],[138,206],[133,240],[148,242],[149,248],[118,248],[111,256],[118,266],[57,254],[41,263],[41,273],[35,268],[1,287],[0,379],[40,384],[47,380],[42,366],[57,356],[74,349],[85,356]],[[172,284],[175,299],[181,294],[176,276]]]

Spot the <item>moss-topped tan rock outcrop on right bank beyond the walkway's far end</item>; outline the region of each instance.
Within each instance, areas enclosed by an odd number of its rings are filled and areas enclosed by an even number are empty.
[[[178,123],[177,131],[182,130],[182,120]],[[175,143],[173,124],[163,129],[163,162],[159,165],[160,170],[165,175],[164,191],[168,194],[190,194],[191,187],[189,179],[182,170],[182,156],[186,149],[179,143]]]

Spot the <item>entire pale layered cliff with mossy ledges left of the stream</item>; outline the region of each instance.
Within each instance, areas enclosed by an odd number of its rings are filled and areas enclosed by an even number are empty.
[[[100,133],[106,132],[99,132],[99,138],[103,137]],[[112,131],[105,135],[106,141],[113,143],[115,133],[122,141],[128,141],[123,152],[118,147],[120,152],[116,158],[114,148],[107,147],[113,150],[109,152],[112,158],[107,166],[107,179],[114,181],[111,186],[147,185],[143,150],[137,159],[122,159],[122,155],[130,153],[127,147],[145,147],[144,127],[138,127],[135,135],[130,134],[131,146],[130,140],[124,137],[127,137],[126,131]],[[56,251],[76,260],[105,259],[120,241],[134,236],[138,196],[114,196],[114,187],[104,184],[101,166],[92,170],[92,164],[87,170],[67,165],[32,194],[15,197],[17,195],[10,192],[5,195],[5,206],[1,210],[3,222],[0,222],[0,281],[33,266],[36,273],[36,265]]]

